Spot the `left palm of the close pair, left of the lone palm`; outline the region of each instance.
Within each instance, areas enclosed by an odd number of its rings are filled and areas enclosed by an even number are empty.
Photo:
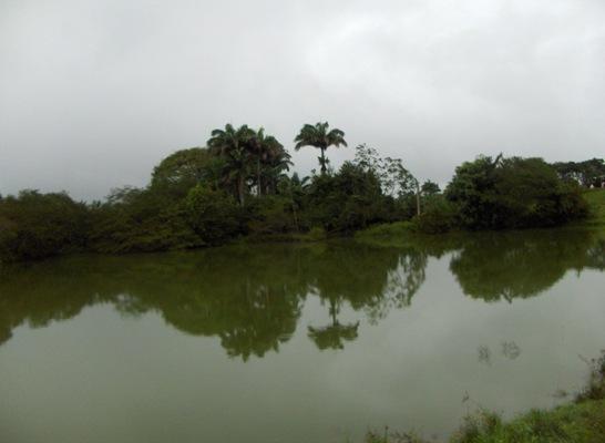
[[[225,130],[214,130],[207,142],[211,153],[223,157],[226,165],[225,181],[235,183],[237,199],[244,205],[245,187],[250,172],[250,145],[256,132],[242,125],[237,130],[232,125],[225,125]]]

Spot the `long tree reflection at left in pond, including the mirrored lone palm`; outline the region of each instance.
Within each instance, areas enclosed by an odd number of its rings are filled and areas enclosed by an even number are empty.
[[[221,340],[229,356],[263,357],[293,336],[307,297],[327,306],[331,323],[309,328],[320,348],[341,348],[357,337],[358,321],[340,323],[347,303],[371,312],[409,300],[425,261],[394,248],[351,243],[312,246],[229,247],[196,253],[127,257],[68,257],[12,267],[0,278],[0,340],[22,324],[44,327],[86,306],[112,303],[124,316],[158,312],[174,328]],[[393,276],[398,276],[397,280]],[[420,277],[421,276],[421,277]]]

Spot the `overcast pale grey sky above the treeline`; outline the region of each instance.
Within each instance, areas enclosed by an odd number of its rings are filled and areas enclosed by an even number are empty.
[[[604,0],[0,0],[0,193],[142,186],[214,127],[347,133],[447,183],[605,155]],[[296,169],[317,153],[294,154]]]

